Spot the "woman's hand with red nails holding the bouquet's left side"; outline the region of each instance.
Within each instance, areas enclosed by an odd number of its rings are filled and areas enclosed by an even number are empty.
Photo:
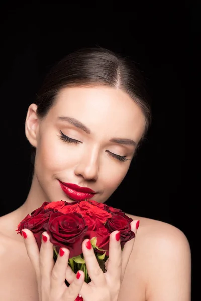
[[[53,244],[47,232],[43,232],[40,251],[33,233],[23,230],[27,254],[36,272],[40,301],[74,301],[84,283],[84,273],[78,271],[73,275],[69,287],[65,284],[68,266],[69,250],[61,248],[56,263],[53,259]]]

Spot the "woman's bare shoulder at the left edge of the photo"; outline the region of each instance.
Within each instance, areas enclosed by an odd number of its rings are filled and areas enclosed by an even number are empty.
[[[0,300],[36,301],[35,272],[22,237],[15,233],[15,221],[13,229],[11,227],[10,217],[13,215],[0,219]]]

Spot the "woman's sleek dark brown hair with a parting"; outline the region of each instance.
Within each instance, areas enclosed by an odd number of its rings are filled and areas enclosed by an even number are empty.
[[[100,47],[77,50],[55,64],[37,94],[38,116],[48,113],[62,88],[97,84],[122,89],[136,102],[145,116],[143,139],[151,123],[151,110],[142,73],[128,58]]]

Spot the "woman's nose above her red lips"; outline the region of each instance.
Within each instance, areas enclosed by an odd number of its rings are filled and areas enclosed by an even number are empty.
[[[98,154],[97,152],[91,152],[85,154],[75,168],[75,174],[82,176],[86,180],[96,181],[98,179]]]

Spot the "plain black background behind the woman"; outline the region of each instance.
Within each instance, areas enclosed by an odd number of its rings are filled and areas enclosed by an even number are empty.
[[[108,204],[178,227],[188,238],[193,255],[192,216],[197,199],[190,197],[194,180],[187,169],[189,154],[185,154],[185,129],[189,128],[185,99],[190,81],[196,78],[194,48],[200,32],[197,9],[187,2],[182,6],[141,3],[134,4],[133,9],[122,3],[113,8],[110,2],[82,6],[8,3],[2,7],[4,181],[0,215],[18,208],[30,187],[30,147],[24,121],[44,75],[69,52],[101,46],[136,62],[146,78],[153,111],[147,140]],[[131,197],[131,187],[135,197]]]

